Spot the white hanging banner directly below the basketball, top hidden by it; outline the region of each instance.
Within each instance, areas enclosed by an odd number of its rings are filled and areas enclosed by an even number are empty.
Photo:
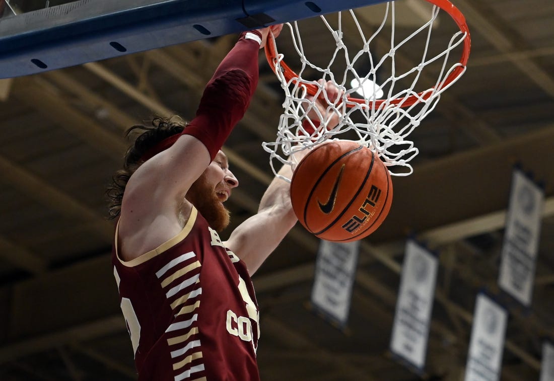
[[[317,253],[312,305],[342,326],[348,321],[359,249],[360,241],[321,240]]]

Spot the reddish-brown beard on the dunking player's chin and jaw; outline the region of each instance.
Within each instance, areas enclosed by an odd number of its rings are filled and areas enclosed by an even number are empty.
[[[229,225],[229,210],[219,202],[214,188],[208,184],[204,175],[192,184],[185,198],[198,209],[212,229],[222,231]]]

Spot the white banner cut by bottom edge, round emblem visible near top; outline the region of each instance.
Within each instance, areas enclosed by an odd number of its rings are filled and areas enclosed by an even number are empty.
[[[500,378],[508,314],[488,296],[479,294],[473,313],[465,381]]]

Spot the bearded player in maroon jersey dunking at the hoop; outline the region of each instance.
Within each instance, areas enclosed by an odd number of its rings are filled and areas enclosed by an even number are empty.
[[[245,32],[220,63],[196,117],[156,118],[116,173],[110,213],[121,309],[139,380],[258,380],[259,312],[250,275],[296,223],[289,184],[274,179],[259,205],[222,241],[223,203],[238,180],[220,150],[258,82],[270,30]],[[291,176],[291,170],[281,173]]]

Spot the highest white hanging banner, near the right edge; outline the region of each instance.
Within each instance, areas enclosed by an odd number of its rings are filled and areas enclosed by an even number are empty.
[[[514,170],[498,284],[524,306],[531,304],[545,194]]]

